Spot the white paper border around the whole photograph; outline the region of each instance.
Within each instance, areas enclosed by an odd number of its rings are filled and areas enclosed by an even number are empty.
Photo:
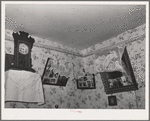
[[[1,2],[1,113],[2,120],[148,120],[149,118],[149,2],[107,1],[107,2],[42,2],[42,1],[2,1]],[[6,109],[4,108],[4,65],[5,65],[5,4],[136,4],[146,5],[146,94],[145,109]]]

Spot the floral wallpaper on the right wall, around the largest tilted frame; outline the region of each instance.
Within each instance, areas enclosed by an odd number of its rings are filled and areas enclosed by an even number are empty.
[[[102,47],[114,45],[118,42],[128,40],[130,38],[145,34],[145,24],[132,30],[128,30],[116,38],[109,39],[103,43],[97,44],[86,50],[83,50],[84,54],[93,52]],[[124,45],[119,45],[124,46]],[[136,81],[138,83],[139,90],[115,93],[117,96],[118,105],[108,106],[107,96],[104,92],[102,80],[97,70],[95,69],[95,59],[97,55],[91,55],[83,58],[85,70],[89,73],[96,74],[96,90],[88,93],[89,99],[92,103],[88,103],[89,108],[113,108],[113,109],[144,109],[145,108],[145,37],[131,42],[127,45],[127,51],[130,57],[130,62],[134,71]],[[98,101],[97,101],[98,100]]]

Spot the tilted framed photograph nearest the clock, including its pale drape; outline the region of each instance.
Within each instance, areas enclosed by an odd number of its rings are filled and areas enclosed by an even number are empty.
[[[42,75],[42,83],[56,86],[66,86],[69,80],[70,70],[65,72],[64,67],[60,66],[59,63],[54,64],[53,59],[48,58],[45,69]]]

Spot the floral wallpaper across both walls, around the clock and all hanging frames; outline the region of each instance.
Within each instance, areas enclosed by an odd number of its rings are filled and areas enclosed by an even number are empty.
[[[130,37],[138,36],[145,33],[145,25],[142,25],[133,30],[128,30],[116,38],[109,39],[103,43],[97,44],[91,48],[83,50],[86,54],[95,51],[101,47],[115,44]],[[7,32],[6,32],[7,34]],[[40,42],[40,39],[36,42]],[[48,43],[45,43],[48,44]],[[13,54],[13,44],[10,41],[5,41],[6,53]],[[131,59],[131,64],[134,70],[136,80],[139,84],[139,90],[136,92],[122,92],[116,93],[118,105],[108,106],[108,96],[104,92],[104,86],[99,74],[96,74],[96,89],[80,90],[77,89],[74,77],[83,74],[83,69],[89,73],[96,73],[93,67],[93,58],[95,55],[88,57],[76,57],[73,55],[56,52],[53,50],[33,47],[32,49],[32,63],[33,68],[40,75],[43,74],[47,58],[52,58],[59,61],[62,65],[69,65],[71,69],[70,78],[66,87],[43,85],[45,104],[38,106],[35,103],[19,103],[8,102],[7,107],[13,108],[80,108],[80,109],[144,109],[145,108],[145,38],[132,42],[127,47]],[[81,52],[79,52],[81,53]]]

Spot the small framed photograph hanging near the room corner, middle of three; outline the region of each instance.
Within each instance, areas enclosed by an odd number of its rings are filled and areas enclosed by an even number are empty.
[[[94,74],[86,74],[77,79],[78,89],[95,89],[95,76]]]

